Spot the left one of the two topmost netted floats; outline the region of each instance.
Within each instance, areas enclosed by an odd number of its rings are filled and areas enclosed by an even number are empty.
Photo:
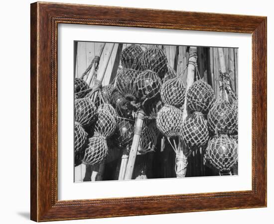
[[[143,50],[140,46],[132,44],[125,48],[121,54],[121,64],[124,68],[140,70]]]

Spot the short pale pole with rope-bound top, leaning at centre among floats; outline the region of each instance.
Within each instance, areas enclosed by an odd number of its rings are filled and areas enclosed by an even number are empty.
[[[139,147],[140,136],[141,136],[141,133],[142,133],[143,118],[144,118],[144,112],[143,112],[142,109],[140,109],[138,111],[137,119],[136,119],[136,122],[135,122],[133,142],[132,142],[132,147],[131,147],[131,151],[130,151],[130,155],[129,155],[129,161],[128,161],[128,164],[127,164],[125,180],[132,179],[135,160],[136,160],[136,155],[137,155],[137,150],[138,150],[138,147]]]

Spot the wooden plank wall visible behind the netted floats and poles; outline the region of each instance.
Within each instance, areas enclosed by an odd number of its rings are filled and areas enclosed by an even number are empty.
[[[103,43],[93,42],[78,42],[75,46],[76,58],[75,58],[75,71],[76,77],[80,77],[87,67],[90,65],[94,57],[98,54],[100,45]],[[111,59],[109,61],[106,76],[103,79],[103,85],[107,85],[115,79],[118,67],[121,67],[120,56],[122,50],[131,44],[115,44]],[[151,47],[152,45],[140,45],[143,50]],[[175,70],[177,75],[182,75],[184,68],[188,62],[188,47],[187,46],[166,46],[157,45],[163,49],[166,53],[169,66]],[[238,93],[238,49],[235,48],[223,48],[226,61],[226,68],[231,72],[232,87]],[[101,60],[104,60],[106,52],[103,51]],[[217,48],[198,47],[197,52],[197,65],[200,77],[208,82],[215,91],[216,97],[219,94],[219,58]],[[198,78],[196,74],[196,79]],[[186,74],[183,75],[184,81],[186,81]],[[174,170],[175,166],[175,153],[169,146],[168,142],[165,142],[164,150],[160,151],[160,139],[157,143],[155,152],[149,153],[144,156],[137,156],[135,177],[136,178],[168,178],[176,177]],[[187,176],[203,176],[203,175],[217,175],[216,173],[203,166],[203,154],[202,149],[197,149],[189,157],[189,164],[187,168]],[[106,168],[108,172],[113,171],[113,174],[106,174],[104,179],[112,179],[115,176],[116,166],[119,163],[119,159],[116,159],[108,164]],[[86,166],[79,165],[75,167],[75,181],[90,180],[91,170],[87,170]],[[85,177],[85,174],[86,177]]]

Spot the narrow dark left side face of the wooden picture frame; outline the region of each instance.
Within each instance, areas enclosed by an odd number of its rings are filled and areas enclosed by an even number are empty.
[[[38,222],[38,3],[30,4],[30,220]]]

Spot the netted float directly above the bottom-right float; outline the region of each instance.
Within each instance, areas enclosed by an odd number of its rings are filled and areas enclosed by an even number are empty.
[[[217,100],[207,115],[212,133],[233,135],[237,132],[238,116],[228,101]]]

